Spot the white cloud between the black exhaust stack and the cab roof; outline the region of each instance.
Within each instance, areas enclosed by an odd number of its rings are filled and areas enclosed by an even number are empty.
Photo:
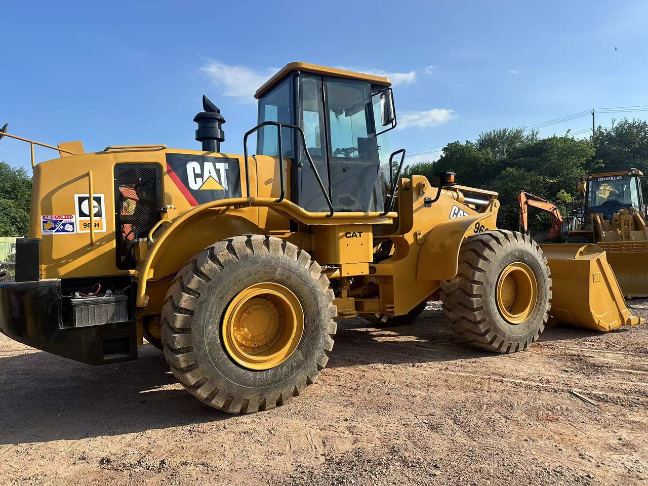
[[[209,61],[200,68],[222,95],[238,98],[240,102],[255,103],[254,93],[279,69],[257,71],[251,67],[228,65],[218,61]]]

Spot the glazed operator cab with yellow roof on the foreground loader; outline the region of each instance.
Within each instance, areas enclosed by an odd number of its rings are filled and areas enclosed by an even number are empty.
[[[294,62],[255,94],[259,123],[280,122],[303,130],[334,211],[385,209],[390,156],[385,132],[396,126],[389,86],[380,76]],[[281,146],[283,157],[292,160],[290,200],[307,211],[328,212],[301,135],[283,127]],[[257,154],[278,156],[276,126],[259,129]]]

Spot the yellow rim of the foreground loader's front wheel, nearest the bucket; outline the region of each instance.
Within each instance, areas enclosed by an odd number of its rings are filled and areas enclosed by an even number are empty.
[[[538,299],[535,275],[526,264],[509,264],[497,281],[497,307],[511,324],[521,324],[533,314]]]

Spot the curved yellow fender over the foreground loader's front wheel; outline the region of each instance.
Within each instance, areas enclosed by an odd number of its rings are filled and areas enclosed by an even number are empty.
[[[457,275],[459,249],[463,239],[481,233],[481,231],[497,229],[493,216],[495,213],[489,211],[448,220],[435,226],[426,235],[421,247],[416,272],[417,279],[453,279]],[[492,224],[492,227],[489,224]],[[477,231],[475,231],[476,228]]]

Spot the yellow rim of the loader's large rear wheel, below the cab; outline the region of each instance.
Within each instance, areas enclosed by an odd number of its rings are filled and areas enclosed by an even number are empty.
[[[287,287],[254,284],[231,301],[223,317],[227,354],[248,369],[270,369],[297,349],[304,334],[304,310]]]

